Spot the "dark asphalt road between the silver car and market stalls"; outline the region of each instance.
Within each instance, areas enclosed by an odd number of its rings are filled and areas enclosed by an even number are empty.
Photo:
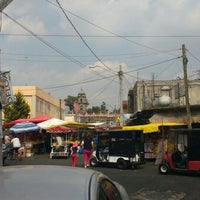
[[[50,159],[48,154],[34,155],[22,161],[8,161],[7,165],[62,165],[71,166],[70,159]],[[6,166],[5,166],[6,167]],[[77,167],[83,167],[83,157]],[[153,162],[147,162],[137,170],[119,170],[113,167],[93,168],[102,171],[121,183],[131,200],[199,200],[200,176],[160,175]]]

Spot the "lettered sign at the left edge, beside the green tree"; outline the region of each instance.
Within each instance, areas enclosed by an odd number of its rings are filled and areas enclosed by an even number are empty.
[[[10,72],[0,72],[0,86],[2,87],[1,93],[1,107],[9,105],[15,101],[12,92],[12,84],[10,80]]]

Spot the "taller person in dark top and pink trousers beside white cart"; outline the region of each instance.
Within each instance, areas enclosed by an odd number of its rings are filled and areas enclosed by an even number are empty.
[[[90,156],[92,155],[92,149],[93,149],[93,145],[94,145],[94,141],[93,141],[90,133],[86,134],[81,145],[84,148],[84,150],[83,150],[84,167],[87,168],[87,167],[89,167]]]

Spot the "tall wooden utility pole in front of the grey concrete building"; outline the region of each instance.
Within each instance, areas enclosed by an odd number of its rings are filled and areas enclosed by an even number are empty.
[[[187,126],[191,126],[191,112],[190,112],[190,103],[189,103],[189,94],[188,94],[188,78],[187,78],[187,63],[188,59],[186,57],[185,45],[182,45],[182,57],[183,57],[183,74],[184,74],[184,86],[185,86],[185,104],[186,104],[186,113],[187,113]]]

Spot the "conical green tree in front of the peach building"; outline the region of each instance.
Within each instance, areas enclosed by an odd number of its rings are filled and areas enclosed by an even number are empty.
[[[30,115],[30,106],[24,99],[21,92],[15,96],[15,102],[3,108],[4,122],[10,122],[20,118],[28,118]]]

